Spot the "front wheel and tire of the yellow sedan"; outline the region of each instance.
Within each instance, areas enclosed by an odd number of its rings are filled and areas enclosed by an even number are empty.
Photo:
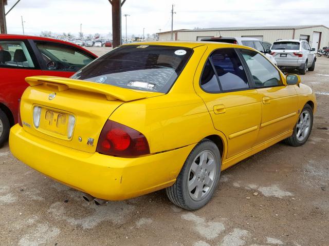
[[[298,147],[305,144],[313,127],[313,109],[306,104],[299,115],[294,133],[285,139],[286,144]]]

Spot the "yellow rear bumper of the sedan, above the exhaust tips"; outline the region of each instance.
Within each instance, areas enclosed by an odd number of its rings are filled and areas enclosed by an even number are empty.
[[[121,158],[71,149],[10,130],[13,155],[31,168],[72,188],[106,200],[123,200],[171,186],[194,145],[158,154]]]

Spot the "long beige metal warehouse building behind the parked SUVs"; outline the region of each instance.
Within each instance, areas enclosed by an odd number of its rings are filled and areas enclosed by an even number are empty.
[[[161,32],[159,40],[170,40],[170,32]],[[174,40],[195,41],[204,37],[254,37],[270,43],[281,39],[306,39],[316,50],[329,46],[329,28],[318,26],[228,27],[175,30]]]

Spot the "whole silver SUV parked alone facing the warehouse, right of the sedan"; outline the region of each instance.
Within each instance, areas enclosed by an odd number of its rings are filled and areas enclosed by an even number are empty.
[[[280,69],[298,69],[300,74],[306,70],[314,71],[317,58],[306,40],[285,39],[272,44],[271,55],[276,58]]]

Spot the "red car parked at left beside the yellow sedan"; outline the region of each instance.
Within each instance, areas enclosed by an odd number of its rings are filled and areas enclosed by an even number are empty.
[[[0,146],[18,120],[19,99],[28,87],[25,77],[70,77],[96,58],[92,52],[61,40],[0,34]]]

